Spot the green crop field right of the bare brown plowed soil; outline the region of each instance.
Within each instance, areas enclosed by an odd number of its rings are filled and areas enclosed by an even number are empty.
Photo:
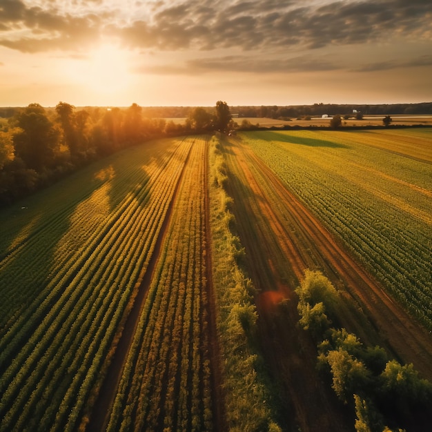
[[[239,136],[432,329],[432,130]]]

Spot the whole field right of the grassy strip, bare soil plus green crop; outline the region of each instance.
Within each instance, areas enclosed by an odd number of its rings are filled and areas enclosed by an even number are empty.
[[[309,341],[290,330],[305,268],[343,293],[346,328],[431,377],[429,329],[413,325],[431,319],[431,132],[399,135],[395,148],[384,132],[244,132],[224,141],[239,235],[261,291],[263,352],[305,430],[348,427],[317,384]],[[286,315],[275,322],[282,299]]]

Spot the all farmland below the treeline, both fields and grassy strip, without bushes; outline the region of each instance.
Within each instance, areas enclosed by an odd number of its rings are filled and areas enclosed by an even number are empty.
[[[297,326],[306,268],[432,379],[431,138],[159,139],[3,210],[0,430],[349,430]]]

